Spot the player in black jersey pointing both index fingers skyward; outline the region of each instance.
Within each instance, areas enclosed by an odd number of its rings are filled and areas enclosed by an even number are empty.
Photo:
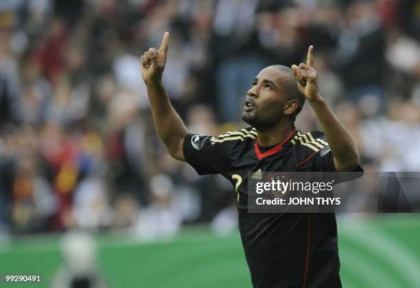
[[[154,125],[167,152],[198,174],[220,173],[235,187],[239,228],[254,287],[341,287],[334,213],[248,213],[248,172],[360,170],[349,131],[327,107],[316,86],[313,47],[307,64],[268,66],[247,92],[246,129],[218,137],[188,133],[161,77],[169,34],[159,50],[141,56]],[[301,134],[296,115],[307,100],[324,132]]]

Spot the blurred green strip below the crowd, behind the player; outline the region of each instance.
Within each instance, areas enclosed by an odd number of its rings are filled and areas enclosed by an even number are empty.
[[[420,215],[340,218],[344,287],[420,287]],[[0,273],[35,274],[49,287],[62,263],[59,237],[25,237],[0,244]],[[251,287],[239,234],[218,237],[185,228],[175,239],[139,244],[126,235],[98,235],[99,261],[110,287]]]

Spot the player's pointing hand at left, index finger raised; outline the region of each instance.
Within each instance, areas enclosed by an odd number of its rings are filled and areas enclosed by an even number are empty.
[[[161,48],[159,48],[159,50],[150,48],[148,51],[145,51],[143,56],[140,57],[141,77],[143,77],[146,85],[148,83],[161,81],[166,64],[168,41],[169,33],[165,32],[165,34],[163,34]]]

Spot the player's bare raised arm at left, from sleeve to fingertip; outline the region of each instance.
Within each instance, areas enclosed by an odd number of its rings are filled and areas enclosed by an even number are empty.
[[[140,57],[141,76],[148,88],[154,127],[156,127],[159,138],[161,138],[167,152],[172,157],[185,161],[183,142],[188,130],[174,107],[172,107],[162,84],[168,41],[169,33],[165,32],[163,34],[161,48],[159,50],[150,48]]]

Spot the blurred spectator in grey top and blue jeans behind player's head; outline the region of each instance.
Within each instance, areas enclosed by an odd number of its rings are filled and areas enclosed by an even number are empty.
[[[217,66],[218,112],[222,122],[238,122],[248,83],[266,66],[255,39],[256,0],[221,0],[213,19],[215,61]],[[168,61],[171,61],[170,57]],[[171,87],[167,87],[169,91]]]

